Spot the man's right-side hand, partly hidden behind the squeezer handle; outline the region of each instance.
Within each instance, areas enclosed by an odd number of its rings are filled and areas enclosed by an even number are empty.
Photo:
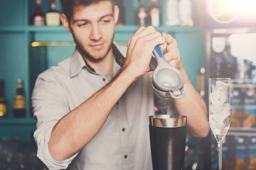
[[[166,61],[169,62],[169,64],[171,64],[178,70],[184,69],[180,59],[180,53],[177,46],[177,41],[170,34],[162,33],[162,35],[167,42],[166,45],[160,45]],[[153,78],[153,73],[149,75],[149,78]]]

